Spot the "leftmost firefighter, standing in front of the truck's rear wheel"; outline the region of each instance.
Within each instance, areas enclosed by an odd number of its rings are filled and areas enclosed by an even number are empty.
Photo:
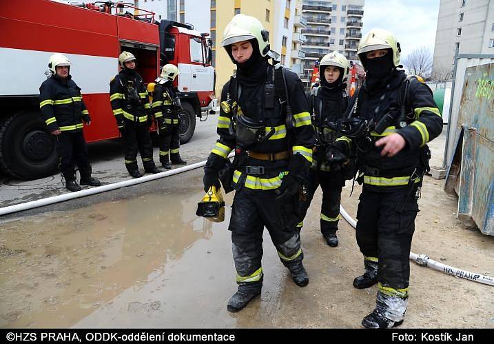
[[[83,122],[91,125],[89,112],[82,99],[81,88],[72,80],[70,61],[62,54],[53,54],[48,60],[51,75],[39,88],[39,108],[48,130],[56,138],[59,168],[65,179],[65,188],[79,191],[74,164],[81,174],[81,185],[99,186],[91,176],[88,146],[83,134]]]

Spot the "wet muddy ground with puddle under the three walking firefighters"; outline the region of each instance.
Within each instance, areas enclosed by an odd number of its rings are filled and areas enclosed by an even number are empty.
[[[0,327],[360,327],[377,289],[351,286],[363,262],[350,225],[340,221],[338,247],[322,239],[320,192],[302,230],[309,285],[291,281],[265,233],[263,294],[229,314],[230,209],[223,223],[195,215],[201,178],[196,170],[4,219]],[[442,183],[426,177],[412,251],[493,276],[494,237],[455,218]],[[354,216],[360,190],[349,198],[350,189],[342,202]],[[494,287],[411,263],[410,295],[403,327],[494,328]]]

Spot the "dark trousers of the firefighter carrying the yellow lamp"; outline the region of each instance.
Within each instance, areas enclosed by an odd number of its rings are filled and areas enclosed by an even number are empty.
[[[275,190],[247,188],[241,188],[235,194],[229,230],[238,285],[253,283],[260,287],[262,284],[264,227],[285,266],[303,259],[300,234],[295,227],[285,228],[276,196]]]

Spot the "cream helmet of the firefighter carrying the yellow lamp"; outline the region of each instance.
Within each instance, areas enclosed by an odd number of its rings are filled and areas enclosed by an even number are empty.
[[[261,56],[265,57],[269,53],[269,32],[264,30],[259,19],[240,13],[231,19],[223,31],[221,46],[225,48],[227,45],[249,39],[256,39]],[[232,61],[235,62],[233,59]]]

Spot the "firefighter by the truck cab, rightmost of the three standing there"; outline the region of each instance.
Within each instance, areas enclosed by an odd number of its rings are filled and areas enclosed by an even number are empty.
[[[178,135],[180,100],[176,97],[173,86],[173,81],[178,74],[180,72],[176,65],[163,65],[161,75],[156,79],[152,104],[160,136],[160,161],[163,168],[167,170],[172,168],[169,163],[170,159],[174,165],[187,165],[187,161],[183,161],[178,152],[180,148],[180,136]]]

